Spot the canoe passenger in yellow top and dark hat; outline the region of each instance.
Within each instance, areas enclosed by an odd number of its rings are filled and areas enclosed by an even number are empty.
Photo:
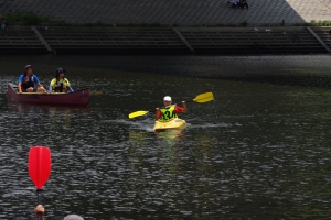
[[[64,78],[65,69],[57,68],[55,70],[55,78],[52,79],[49,92],[74,92],[67,78]]]

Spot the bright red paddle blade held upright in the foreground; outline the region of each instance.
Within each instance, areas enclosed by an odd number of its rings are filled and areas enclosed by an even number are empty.
[[[36,189],[42,189],[51,174],[51,151],[46,146],[32,146],[29,151],[29,175]]]

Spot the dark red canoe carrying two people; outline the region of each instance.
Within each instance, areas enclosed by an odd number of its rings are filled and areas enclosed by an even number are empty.
[[[18,86],[8,84],[8,99],[15,102],[55,106],[87,106],[90,98],[90,90],[83,89],[71,94],[52,92],[22,92],[18,94]]]

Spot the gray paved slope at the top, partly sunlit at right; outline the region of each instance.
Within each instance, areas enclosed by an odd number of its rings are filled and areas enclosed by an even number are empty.
[[[0,12],[33,12],[70,23],[160,23],[181,26],[305,23],[331,20],[331,0],[248,0],[249,10],[227,0],[0,0]]]

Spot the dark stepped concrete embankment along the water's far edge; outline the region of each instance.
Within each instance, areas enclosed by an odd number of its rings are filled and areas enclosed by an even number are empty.
[[[10,26],[1,54],[324,54],[330,28]]]

